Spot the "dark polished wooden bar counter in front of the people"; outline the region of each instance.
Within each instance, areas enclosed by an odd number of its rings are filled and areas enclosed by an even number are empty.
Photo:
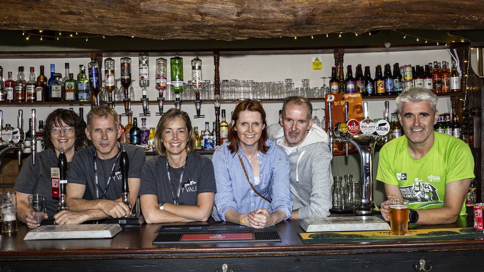
[[[413,225],[411,228],[473,226],[472,215],[457,224]],[[199,222],[195,222],[199,224]],[[180,223],[176,223],[180,224]],[[442,240],[305,245],[299,220],[277,225],[280,243],[214,243],[152,245],[161,224],[121,230],[111,239],[28,240],[16,234],[0,236],[0,271],[371,271],[420,270],[482,272],[484,240]]]

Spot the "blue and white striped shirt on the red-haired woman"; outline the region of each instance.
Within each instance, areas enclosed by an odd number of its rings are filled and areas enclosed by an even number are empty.
[[[231,153],[229,143],[224,143],[213,154],[212,162],[215,170],[215,182],[217,193],[215,194],[216,210],[212,216],[216,220],[225,220],[225,213],[235,210],[241,214],[247,214],[257,209],[269,208],[269,213],[282,211],[291,217],[293,200],[289,182],[291,172],[290,161],[287,153],[273,141],[265,143],[270,149],[266,154],[258,151],[259,160],[259,183],[255,185],[252,166],[239,147],[243,165],[247,171],[250,183],[265,198],[272,201],[269,203],[258,196],[247,182],[245,173],[237,153]]]

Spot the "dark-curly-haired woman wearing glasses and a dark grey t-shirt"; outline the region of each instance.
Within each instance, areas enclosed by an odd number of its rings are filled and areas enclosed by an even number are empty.
[[[17,217],[30,228],[38,225],[29,213],[29,195],[46,195],[47,216],[52,218],[57,213],[59,198],[52,197],[51,168],[57,167],[62,148],[68,170],[76,147],[81,147],[84,143],[85,128],[86,123],[73,110],[56,109],[47,116],[44,130],[45,150],[36,154],[35,165],[32,164],[32,156],[27,158],[13,187],[17,192]]]

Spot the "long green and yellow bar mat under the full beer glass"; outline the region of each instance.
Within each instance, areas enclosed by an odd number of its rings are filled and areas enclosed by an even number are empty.
[[[483,239],[482,230],[475,228],[412,229],[407,235],[392,235],[391,231],[345,231],[298,233],[304,244],[341,244],[385,241],[441,241]]]

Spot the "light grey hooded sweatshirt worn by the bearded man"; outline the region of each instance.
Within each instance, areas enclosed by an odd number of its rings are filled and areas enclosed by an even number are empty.
[[[333,153],[328,134],[322,128],[313,124],[310,131],[303,143],[289,154],[293,211],[299,209],[300,218],[328,217],[333,207]],[[270,125],[268,134],[270,140],[282,145],[284,128],[281,125]]]

